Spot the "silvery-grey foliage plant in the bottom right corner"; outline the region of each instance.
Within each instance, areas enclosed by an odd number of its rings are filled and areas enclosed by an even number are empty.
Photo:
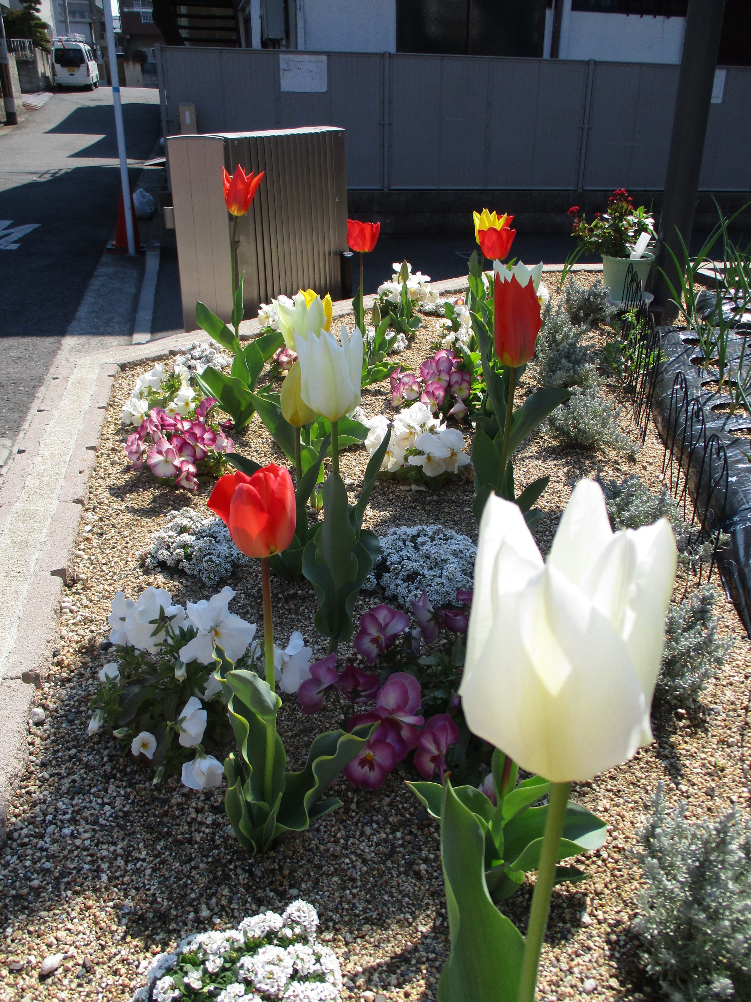
[[[689,824],[662,787],[640,833],[645,889],[635,931],[671,1002],[751,997],[751,822],[734,809]]]

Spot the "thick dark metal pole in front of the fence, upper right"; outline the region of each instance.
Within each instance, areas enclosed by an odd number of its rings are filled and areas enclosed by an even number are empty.
[[[668,284],[658,268],[667,272],[674,286],[679,285],[668,248],[681,261],[678,232],[686,246],[691,240],[724,10],[725,0],[689,0],[686,15],[657,262],[651,276],[655,306],[665,308],[666,319],[676,317],[678,309],[670,302]]]

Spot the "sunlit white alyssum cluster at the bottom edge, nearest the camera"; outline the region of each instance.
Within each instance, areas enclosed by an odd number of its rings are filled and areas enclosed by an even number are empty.
[[[189,936],[175,953],[141,964],[147,983],[133,1002],[178,998],[177,975],[217,1002],[340,1002],[341,968],[333,951],[316,941],[317,927],[315,909],[294,901],[282,915],[265,912],[243,919],[237,929]],[[229,972],[237,980],[227,984]]]

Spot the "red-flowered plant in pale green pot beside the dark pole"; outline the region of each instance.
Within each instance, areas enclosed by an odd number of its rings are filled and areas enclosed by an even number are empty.
[[[603,285],[614,303],[623,300],[629,265],[634,266],[642,285],[646,285],[655,260],[650,244],[654,246],[652,241],[657,234],[655,220],[644,205],[635,208],[628,191],[619,188],[608,199],[608,211],[597,212],[592,222],[587,221],[584,213],[579,215],[578,205],[571,206],[569,215],[574,216],[572,236],[579,239],[582,253],[600,253]]]

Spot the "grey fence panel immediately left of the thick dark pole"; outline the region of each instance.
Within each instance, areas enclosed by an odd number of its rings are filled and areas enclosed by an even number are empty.
[[[678,66],[596,63],[585,188],[661,188]]]

